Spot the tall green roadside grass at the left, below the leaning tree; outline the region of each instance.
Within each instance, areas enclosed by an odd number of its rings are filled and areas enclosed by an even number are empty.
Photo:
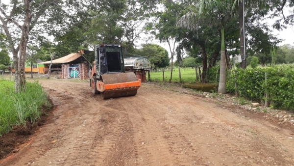
[[[0,136],[12,130],[12,126],[37,122],[43,107],[50,107],[42,85],[35,81],[26,83],[26,91],[14,92],[14,82],[0,81]]]

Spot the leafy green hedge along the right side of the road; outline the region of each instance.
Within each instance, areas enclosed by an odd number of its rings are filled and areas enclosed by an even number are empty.
[[[216,71],[217,68],[208,71],[208,77],[212,83],[216,81]],[[226,90],[230,93],[235,93],[234,77],[234,72],[227,73]],[[267,92],[271,107],[294,111],[294,65],[237,69],[237,84],[241,97],[263,102]]]

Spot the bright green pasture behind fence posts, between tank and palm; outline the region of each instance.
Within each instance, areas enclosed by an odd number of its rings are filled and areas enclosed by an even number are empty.
[[[171,78],[171,71],[164,72],[165,81],[169,81]],[[150,72],[151,81],[162,82],[162,71],[161,72]],[[195,68],[181,68],[181,78],[182,82],[196,82]],[[179,69],[174,68],[172,71],[172,82],[180,82],[179,79]]]

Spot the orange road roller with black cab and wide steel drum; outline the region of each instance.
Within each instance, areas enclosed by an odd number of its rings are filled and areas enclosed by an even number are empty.
[[[121,44],[100,44],[95,47],[90,86],[93,94],[103,99],[134,96],[141,80],[133,72],[125,73]]]

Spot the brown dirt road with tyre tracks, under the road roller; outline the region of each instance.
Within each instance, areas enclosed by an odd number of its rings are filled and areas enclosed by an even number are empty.
[[[86,82],[40,82],[54,116],[0,166],[294,165],[291,129],[212,99],[143,84],[102,100]]]

